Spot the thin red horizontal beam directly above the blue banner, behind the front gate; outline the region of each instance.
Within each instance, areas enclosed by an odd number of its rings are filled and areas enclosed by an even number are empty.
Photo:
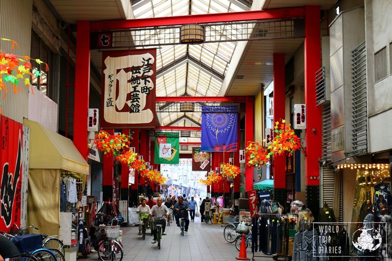
[[[246,96],[159,96],[156,102],[245,102]]]

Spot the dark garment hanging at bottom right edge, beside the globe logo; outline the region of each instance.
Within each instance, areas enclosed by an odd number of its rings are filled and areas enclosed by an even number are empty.
[[[384,215],[380,221],[380,234],[381,234],[381,245],[379,248],[379,254],[381,261],[392,260],[392,217],[391,215]],[[388,233],[387,233],[388,232]]]

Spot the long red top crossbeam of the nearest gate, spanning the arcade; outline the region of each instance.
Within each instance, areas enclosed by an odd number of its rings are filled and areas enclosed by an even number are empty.
[[[133,20],[114,20],[91,22],[91,31],[126,30],[144,27],[157,27],[181,24],[226,23],[255,20],[304,18],[305,7],[279,8],[270,10],[155,17]]]

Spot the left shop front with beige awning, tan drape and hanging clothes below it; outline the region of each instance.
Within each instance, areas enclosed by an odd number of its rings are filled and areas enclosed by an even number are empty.
[[[25,119],[24,124],[30,128],[27,224],[39,227],[41,233],[59,235],[60,213],[70,213],[67,223],[71,226],[71,213],[84,195],[89,166],[71,140],[38,122]],[[68,185],[62,188],[63,184]]]

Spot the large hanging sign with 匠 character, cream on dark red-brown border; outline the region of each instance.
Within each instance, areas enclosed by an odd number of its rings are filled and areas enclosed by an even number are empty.
[[[102,128],[155,127],[156,49],[102,52]]]

